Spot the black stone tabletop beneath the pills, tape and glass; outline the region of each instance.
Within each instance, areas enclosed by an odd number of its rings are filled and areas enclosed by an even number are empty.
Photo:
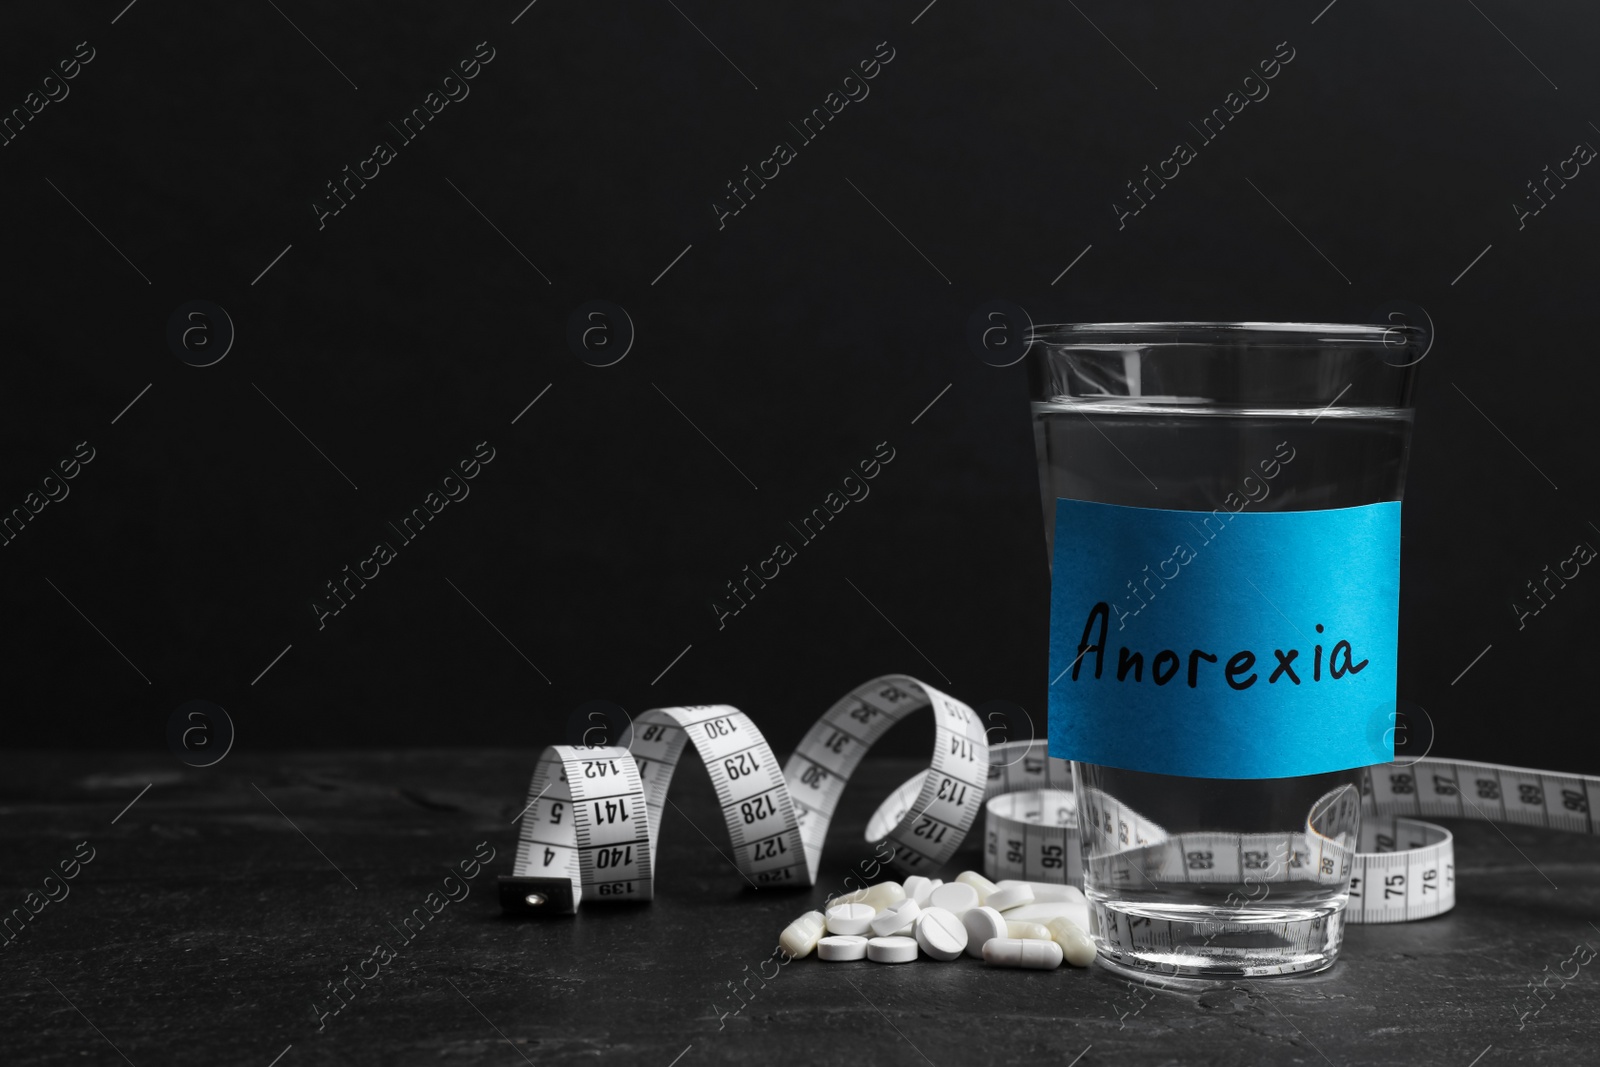
[[[0,1064],[1600,1062],[1595,838],[1453,824],[1456,909],[1355,926],[1338,966],[1302,979],[1173,992],[968,958],[779,968],[778,933],[872,856],[866,819],[914,763],[867,758],[818,888],[757,893],[718,854],[691,758],[653,904],[518,921],[494,875],[534,755],[0,755],[0,913],[30,913],[0,941]],[[62,861],[75,877],[46,883]],[[978,865],[974,841],[950,870]],[[46,888],[59,899],[40,905]],[[430,920],[406,937],[414,909]],[[379,944],[392,955],[368,961]],[[357,971],[376,976],[336,1001],[330,982]]]

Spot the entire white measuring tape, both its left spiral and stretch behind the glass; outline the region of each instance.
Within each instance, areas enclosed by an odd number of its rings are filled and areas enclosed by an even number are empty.
[[[1170,833],[1117,798],[1075,790],[1070,763],[1043,741],[989,745],[978,715],[907,675],[874,678],[834,704],[779,768],[750,718],[730,705],[661,707],[634,720],[629,747],[550,745],[534,766],[514,873],[501,877],[512,913],[571,913],[602,901],[654,896],[653,856],[672,773],[693,742],[722,808],[733,864],[754,886],[816,885],[827,827],[845,782],[894,723],[928,709],[931,766],[899,785],[867,822],[886,862],[933,873],[986,811],[984,872],[992,880],[1083,883],[1080,830],[1093,821],[1117,846],[1112,881],[1158,885],[1344,885],[1344,920],[1397,923],[1454,907],[1450,830],[1418,816],[1515,822],[1595,833],[1600,777],[1422,758],[1379,765],[1320,798],[1302,832]],[[1349,825],[1360,833],[1323,833]],[[1246,899],[1254,899],[1250,893]]]

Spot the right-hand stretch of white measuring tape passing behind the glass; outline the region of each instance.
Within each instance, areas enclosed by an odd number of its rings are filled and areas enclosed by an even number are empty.
[[[1128,881],[1139,875],[1168,885],[1341,883],[1349,875],[1344,920],[1352,923],[1400,923],[1454,907],[1453,837],[1416,816],[1594,833],[1592,805],[1600,798],[1594,776],[1424,758],[1405,768],[1366,768],[1360,795],[1354,789],[1328,793],[1312,806],[1302,833],[1168,833],[1112,797],[1075,793],[1070,765],[1046,758],[1035,742],[995,745],[989,763],[989,878],[1082,885],[1078,825],[1093,819],[1101,835],[1118,843],[1104,857],[1112,875],[1120,873],[1118,862]],[[1318,824],[1347,822],[1355,805],[1362,829],[1354,841],[1318,832]]]

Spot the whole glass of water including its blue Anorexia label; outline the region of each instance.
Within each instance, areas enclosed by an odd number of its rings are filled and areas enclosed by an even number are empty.
[[[1394,758],[1406,325],[1038,326],[1050,753],[1090,934],[1141,977],[1342,939],[1360,768]]]

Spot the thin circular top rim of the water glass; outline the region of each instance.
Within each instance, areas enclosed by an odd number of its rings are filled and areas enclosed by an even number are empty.
[[[1029,341],[1048,347],[1128,347],[1218,344],[1262,347],[1384,346],[1403,347],[1426,330],[1413,325],[1302,322],[1094,322],[1040,323]]]

